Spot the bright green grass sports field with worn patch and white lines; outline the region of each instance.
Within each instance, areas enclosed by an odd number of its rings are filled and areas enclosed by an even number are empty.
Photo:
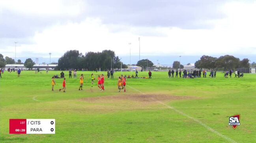
[[[90,87],[92,72],[79,80],[67,78],[67,92],[59,92],[60,71],[22,71],[0,79],[1,143],[222,143],[256,142],[256,75],[243,78],[168,78],[152,72],[152,79],[127,79],[127,92],[117,92],[117,77],[105,79],[105,91]],[[106,72],[98,72],[98,74]],[[123,72],[122,74],[134,74]],[[68,72],[65,72],[68,76]],[[139,72],[147,76],[147,72]],[[241,114],[233,129],[229,117]],[[56,119],[56,134],[9,134],[9,119]]]

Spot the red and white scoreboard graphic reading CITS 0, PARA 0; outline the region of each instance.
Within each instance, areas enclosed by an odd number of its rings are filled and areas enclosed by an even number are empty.
[[[9,119],[9,134],[55,134],[55,119]]]

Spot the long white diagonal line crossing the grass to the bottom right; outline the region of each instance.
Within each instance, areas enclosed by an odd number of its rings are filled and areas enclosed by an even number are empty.
[[[127,85],[127,86],[129,86],[129,85]],[[138,91],[138,92],[140,92],[141,94],[144,94],[144,95],[145,95],[145,93],[139,91],[138,89],[135,89],[135,88],[133,88],[133,87],[131,87],[131,86],[129,86],[129,87],[132,88],[132,89],[134,89],[135,91]],[[155,99],[154,99],[154,100],[155,100]],[[155,100],[155,101],[157,101],[157,100]],[[233,139],[228,138],[227,136],[224,136],[223,134],[220,134],[220,133],[217,132],[216,130],[213,130],[211,127],[209,127],[209,126],[207,126],[206,124],[202,123],[200,120],[198,120],[198,119],[196,119],[196,118],[193,118],[193,117],[191,117],[191,116],[189,116],[189,115],[187,115],[187,114],[181,112],[180,110],[175,109],[174,107],[171,107],[171,106],[169,106],[169,105],[167,105],[167,104],[165,104],[165,103],[163,103],[163,102],[161,102],[161,101],[157,101],[157,102],[163,104],[164,106],[168,107],[169,109],[172,109],[172,110],[174,110],[175,112],[177,112],[177,113],[179,113],[179,114],[181,114],[181,115],[183,115],[183,116],[185,116],[185,117],[187,117],[187,118],[192,119],[193,121],[195,121],[195,122],[199,123],[200,125],[202,125],[203,127],[205,127],[207,130],[209,130],[209,131],[211,131],[211,132],[217,134],[217,135],[220,136],[221,138],[224,138],[224,139],[226,139],[227,141],[230,141],[231,143],[237,143],[237,142],[234,141]]]

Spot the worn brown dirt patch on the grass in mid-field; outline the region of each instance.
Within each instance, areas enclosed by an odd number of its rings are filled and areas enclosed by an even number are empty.
[[[159,110],[166,109],[157,101],[194,99],[191,96],[171,96],[165,94],[120,94],[116,96],[99,96],[82,98],[80,101],[89,103],[86,110],[93,112],[116,112],[119,110]]]

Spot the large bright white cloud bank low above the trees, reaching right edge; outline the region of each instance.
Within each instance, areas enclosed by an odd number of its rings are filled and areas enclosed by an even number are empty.
[[[61,7],[57,6],[57,9],[54,9],[59,3],[60,1],[54,2],[55,6],[49,7],[49,12],[28,6],[25,6],[28,11],[24,10],[25,8],[15,9],[24,13],[60,14]],[[41,33],[37,32],[33,38],[36,44],[21,45],[19,52],[40,52],[45,57],[52,52],[52,56],[59,57],[71,49],[77,49],[83,54],[88,51],[111,49],[117,55],[125,55],[129,54],[128,43],[131,42],[132,54],[138,55],[140,36],[142,55],[256,54],[255,7],[256,2],[226,3],[219,9],[226,14],[226,18],[207,21],[214,25],[213,29],[129,27],[103,24],[99,18],[86,18],[80,23],[53,25]]]

